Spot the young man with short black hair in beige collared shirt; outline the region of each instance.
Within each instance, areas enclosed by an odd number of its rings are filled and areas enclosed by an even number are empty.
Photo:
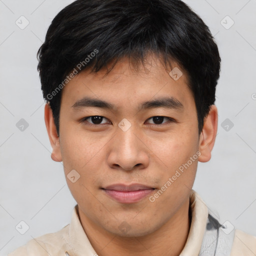
[[[180,0],[77,0],[38,51],[71,223],[9,255],[255,255],[191,190],[217,132],[220,57]]]

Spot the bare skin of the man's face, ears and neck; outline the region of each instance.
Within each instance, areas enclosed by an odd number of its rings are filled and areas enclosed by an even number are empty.
[[[180,70],[177,64],[173,63]],[[62,90],[59,136],[52,112],[45,105],[45,124],[52,146],[51,157],[63,161],[69,189],[78,204],[83,229],[99,256],[179,255],[187,239],[190,219],[189,193],[197,161],[211,157],[217,132],[217,109],[212,105],[198,134],[196,108],[187,75],[174,80],[171,70],[157,57],[148,56],[145,68],[135,70],[127,58],[118,61],[106,76],[84,70]],[[72,105],[84,96],[105,100],[114,109]],[[142,102],[171,96],[182,109],[140,109]],[[93,124],[93,115],[103,116]],[[164,118],[155,123],[153,116]],[[126,118],[127,131],[118,127]],[[81,121],[82,120],[82,121]],[[149,200],[179,166],[200,152],[187,169],[154,202]],[[80,178],[72,183],[67,174],[75,169]],[[135,203],[120,203],[102,187],[114,183],[141,183],[156,188]],[[127,231],[120,228],[125,221]]]

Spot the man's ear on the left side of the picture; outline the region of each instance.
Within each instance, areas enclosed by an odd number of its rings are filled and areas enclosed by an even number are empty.
[[[61,152],[60,152],[60,144],[59,144],[59,136],[57,135],[56,125],[54,123],[52,111],[49,103],[46,103],[44,106],[44,121],[48,133],[48,137],[50,140],[50,144],[52,147],[51,159],[56,162],[62,161]]]

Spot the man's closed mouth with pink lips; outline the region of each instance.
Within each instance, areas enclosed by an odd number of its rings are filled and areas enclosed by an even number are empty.
[[[112,199],[120,203],[134,203],[142,200],[155,189],[143,184],[112,184],[102,188]]]

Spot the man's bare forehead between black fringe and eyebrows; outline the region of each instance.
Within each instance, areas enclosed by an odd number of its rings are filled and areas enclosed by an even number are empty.
[[[112,63],[109,63],[111,67]],[[84,96],[107,99],[115,105],[127,106],[142,99],[171,96],[187,101],[192,93],[187,73],[176,62],[165,67],[161,59],[150,55],[144,64],[134,65],[127,57],[117,61],[111,71],[85,69],[75,75],[63,88],[62,102],[73,105]]]

